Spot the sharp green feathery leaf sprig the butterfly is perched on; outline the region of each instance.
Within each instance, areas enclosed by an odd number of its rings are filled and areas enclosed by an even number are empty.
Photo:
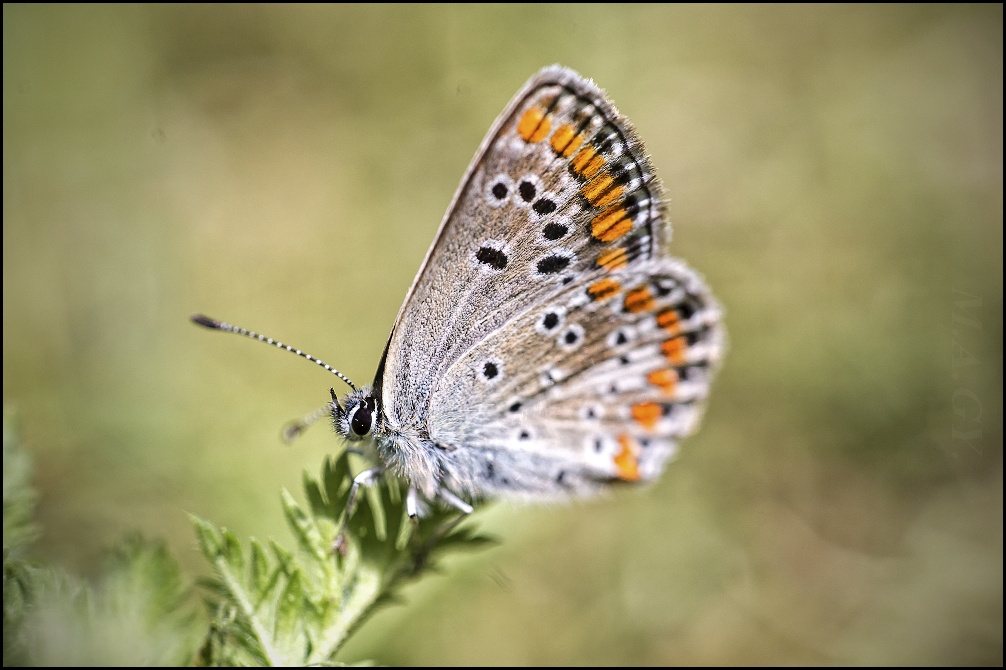
[[[226,529],[193,517],[216,577],[205,582],[212,623],[200,652],[207,665],[322,665],[400,585],[435,566],[448,549],[490,540],[457,513],[430,510],[413,524],[404,488],[391,478],[361,489],[335,549],[352,484],[348,455],[326,460],[320,481],[305,475],[308,509],[287,491],[282,503],[297,540],[291,552],[253,539],[247,550]]]

